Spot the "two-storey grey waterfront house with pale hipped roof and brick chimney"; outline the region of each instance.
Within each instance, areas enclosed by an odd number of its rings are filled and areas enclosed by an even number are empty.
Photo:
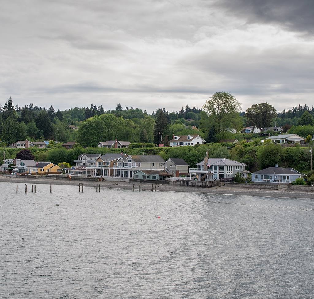
[[[190,168],[190,177],[192,174],[198,177],[198,180],[203,180],[206,173],[211,172],[214,175],[215,180],[232,180],[237,172],[242,177],[247,177],[250,171],[245,170],[244,163],[229,160],[227,158],[204,158],[203,161],[196,164],[198,168]]]

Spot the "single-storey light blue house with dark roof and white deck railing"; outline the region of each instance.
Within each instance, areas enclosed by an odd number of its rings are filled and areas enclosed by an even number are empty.
[[[296,171],[294,168],[279,167],[277,164],[275,167],[268,167],[253,172],[252,181],[258,184],[289,184],[295,181],[295,179],[304,179],[305,176],[304,173]]]

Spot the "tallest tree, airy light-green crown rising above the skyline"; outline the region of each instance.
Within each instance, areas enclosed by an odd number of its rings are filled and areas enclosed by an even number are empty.
[[[225,128],[233,127],[235,119],[241,112],[240,102],[229,92],[214,93],[203,105],[203,109],[210,116],[217,134],[222,132],[223,138]]]

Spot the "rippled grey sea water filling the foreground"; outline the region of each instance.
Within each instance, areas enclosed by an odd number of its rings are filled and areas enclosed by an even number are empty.
[[[0,184],[1,298],[314,297],[310,199],[30,186]]]

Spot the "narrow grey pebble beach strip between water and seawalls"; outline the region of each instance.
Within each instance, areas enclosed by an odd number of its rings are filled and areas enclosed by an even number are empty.
[[[8,177],[0,176],[1,182],[6,183],[20,183],[20,184],[46,184],[46,185],[68,185],[78,186],[79,181],[68,181],[58,179],[27,179],[19,177]],[[127,189],[133,190],[133,183],[130,182],[86,182],[84,181],[84,187],[96,187],[100,185],[102,189],[114,188],[114,189]],[[138,185],[141,190],[151,190],[151,183],[134,183],[134,191],[138,191]],[[251,196],[268,196],[268,197],[289,197],[289,198],[308,198],[314,199],[314,193],[310,191],[292,191],[287,188],[279,190],[271,189],[248,189],[241,187],[228,187],[228,186],[215,186],[211,188],[197,188],[197,187],[186,187],[179,185],[168,185],[168,184],[157,184],[157,191],[170,191],[170,192],[188,192],[188,193],[203,193],[203,194],[231,194],[231,195],[251,195]],[[155,191],[155,185],[153,184],[153,191]]]

